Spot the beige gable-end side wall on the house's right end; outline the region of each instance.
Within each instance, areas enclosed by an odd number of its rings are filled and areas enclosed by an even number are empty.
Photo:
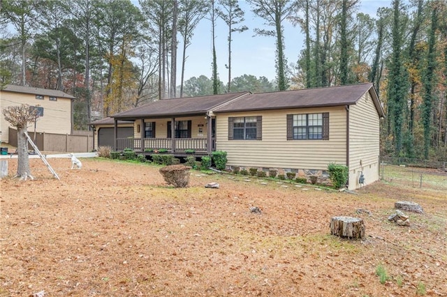
[[[379,179],[379,121],[369,92],[349,109],[349,188],[360,186],[360,172],[365,184]]]

